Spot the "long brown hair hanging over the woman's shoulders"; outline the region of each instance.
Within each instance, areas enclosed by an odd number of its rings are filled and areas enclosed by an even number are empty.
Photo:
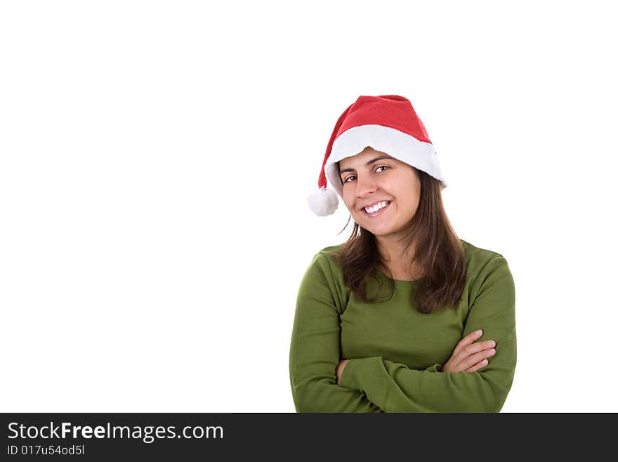
[[[410,267],[417,261],[423,269],[411,302],[419,312],[430,314],[442,307],[456,307],[459,304],[466,282],[466,255],[445,212],[440,181],[419,169],[415,168],[414,171],[421,182],[421,197],[402,242],[405,243],[404,252],[415,245],[416,254]],[[349,223],[350,219],[340,233]],[[378,269],[383,268],[387,272],[388,269],[379,253],[374,234],[355,222],[350,238],[334,257],[341,264],[343,281],[350,290],[364,302],[375,302],[377,296],[369,298],[366,295],[367,281],[369,277],[377,275]],[[390,272],[388,276],[390,298],[395,292],[395,283]]]

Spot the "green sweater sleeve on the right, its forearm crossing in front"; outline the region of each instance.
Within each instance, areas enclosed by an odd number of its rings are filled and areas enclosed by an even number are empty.
[[[383,356],[354,358],[341,385],[362,392],[386,412],[498,412],[511,388],[516,364],[515,286],[504,257],[494,257],[471,287],[475,294],[462,338],[482,329],[496,354],[473,373],[419,371]]]

